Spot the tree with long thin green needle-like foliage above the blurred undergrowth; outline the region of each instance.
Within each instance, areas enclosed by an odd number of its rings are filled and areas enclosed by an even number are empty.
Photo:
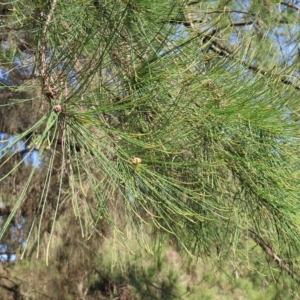
[[[1,11],[3,254],[71,269],[82,298],[104,237],[130,249],[129,231],[245,264],[258,245],[299,282],[297,4]]]

